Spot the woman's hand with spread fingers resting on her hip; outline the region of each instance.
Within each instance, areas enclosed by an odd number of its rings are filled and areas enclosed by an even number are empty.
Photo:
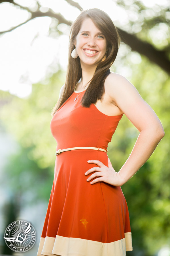
[[[115,172],[114,168],[112,167],[112,163],[109,158],[108,158],[108,167],[105,166],[99,160],[88,160],[87,162],[89,164],[97,164],[99,166],[99,167],[95,166],[95,167],[87,170],[87,172],[85,173],[85,175],[88,175],[88,174],[96,171],[91,176],[89,176],[87,179],[87,181],[90,181],[90,180],[94,179],[95,177],[97,177],[96,179],[91,181],[90,184],[94,184],[98,181],[104,181],[113,186],[122,186],[124,184],[120,174],[118,172]]]

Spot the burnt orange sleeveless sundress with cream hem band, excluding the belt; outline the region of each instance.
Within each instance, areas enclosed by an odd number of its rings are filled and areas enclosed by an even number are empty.
[[[83,107],[74,91],[53,115],[50,129],[58,149],[98,147],[107,150],[122,115],[108,116],[94,104]],[[54,152],[55,154],[55,152]],[[65,151],[56,156],[54,181],[37,255],[125,256],[132,251],[128,206],[121,187],[103,181],[90,184],[85,175],[106,152]],[[94,172],[93,172],[94,173]]]

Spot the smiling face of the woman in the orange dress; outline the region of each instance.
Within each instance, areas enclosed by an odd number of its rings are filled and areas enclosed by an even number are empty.
[[[97,66],[106,58],[106,38],[90,18],[86,18],[82,22],[80,31],[75,39],[75,46],[81,66]]]

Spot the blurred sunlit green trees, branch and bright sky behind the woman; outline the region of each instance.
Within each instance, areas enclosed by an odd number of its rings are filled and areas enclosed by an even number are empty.
[[[170,2],[168,0],[0,1],[0,254],[15,220],[31,222],[37,255],[54,177],[50,115],[65,83],[69,25],[81,9],[99,8],[121,36],[111,71],[126,77],[158,115],[165,137],[122,186],[132,231],[128,256],[170,256]],[[108,147],[116,171],[139,131],[123,115]]]

